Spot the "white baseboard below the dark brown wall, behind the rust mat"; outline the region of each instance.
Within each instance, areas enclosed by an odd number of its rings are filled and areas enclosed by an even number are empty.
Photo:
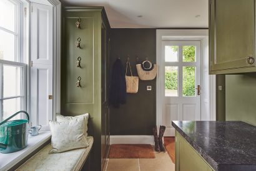
[[[151,144],[154,136],[111,136],[110,144]]]

